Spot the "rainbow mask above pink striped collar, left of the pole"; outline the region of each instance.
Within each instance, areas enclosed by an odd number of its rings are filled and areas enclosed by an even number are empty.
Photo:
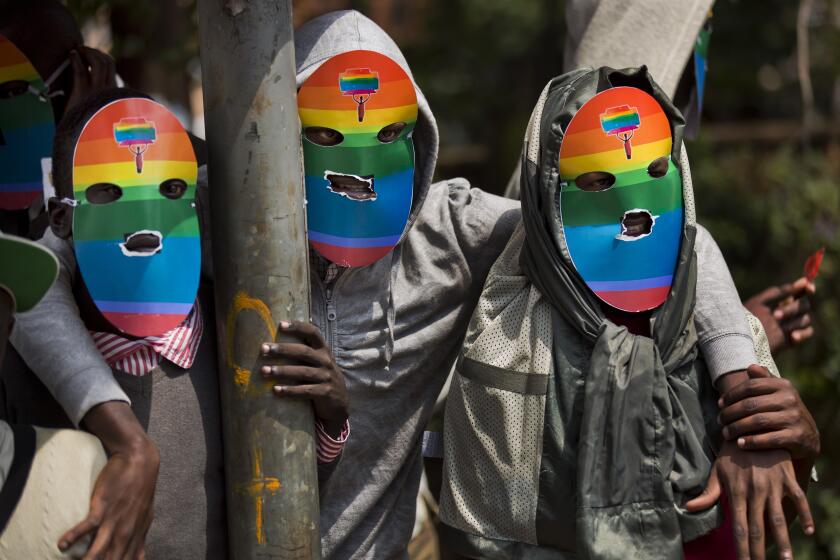
[[[82,130],[73,157],[76,257],[96,307],[124,333],[161,335],[193,307],[197,173],[189,137],[154,101],[114,101]]]

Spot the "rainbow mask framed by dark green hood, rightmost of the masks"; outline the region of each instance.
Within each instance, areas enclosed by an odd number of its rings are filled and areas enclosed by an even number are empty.
[[[572,263],[601,300],[645,311],[668,297],[683,229],[671,127],[640,89],[584,103],[560,145],[560,213]]]

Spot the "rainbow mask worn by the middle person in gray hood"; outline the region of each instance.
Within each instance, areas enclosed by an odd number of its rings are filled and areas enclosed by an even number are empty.
[[[351,51],[298,92],[309,243],[340,266],[365,266],[399,242],[411,211],[417,95],[390,58]]]

